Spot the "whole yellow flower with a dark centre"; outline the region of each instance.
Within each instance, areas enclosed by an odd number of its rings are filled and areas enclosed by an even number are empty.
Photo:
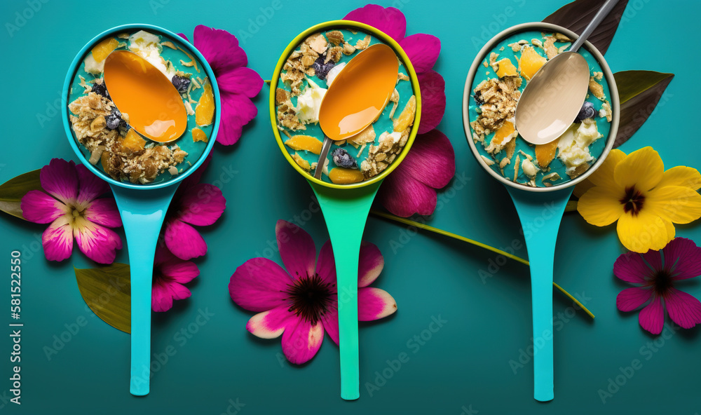
[[[577,210],[592,225],[618,221],[621,243],[634,252],[661,250],[674,238],[674,224],[701,217],[701,174],[678,166],[665,171],[657,151],[625,155],[612,150],[597,171],[575,189]]]

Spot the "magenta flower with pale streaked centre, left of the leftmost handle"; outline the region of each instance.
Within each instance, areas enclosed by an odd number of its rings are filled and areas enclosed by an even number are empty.
[[[101,198],[109,191],[107,183],[89,172],[84,165],[53,158],[41,168],[41,189],[22,197],[22,216],[29,222],[48,224],[41,236],[44,255],[49,261],[71,256],[73,240],[83,254],[100,264],[114,262],[122,241],[109,228],[122,226],[112,197]]]

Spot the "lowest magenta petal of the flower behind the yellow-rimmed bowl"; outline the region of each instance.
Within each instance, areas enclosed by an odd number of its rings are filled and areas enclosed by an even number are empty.
[[[393,215],[410,217],[414,213],[431,215],[438,199],[436,191],[414,179],[402,163],[385,178],[377,200]]]

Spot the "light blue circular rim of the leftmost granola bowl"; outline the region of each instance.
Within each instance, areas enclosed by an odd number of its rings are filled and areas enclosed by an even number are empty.
[[[207,142],[207,147],[205,148],[205,151],[203,154],[198,158],[198,160],[189,168],[187,169],[186,172],[182,173],[181,175],[177,175],[174,179],[168,179],[163,183],[158,183],[158,184],[134,184],[131,182],[120,182],[118,180],[113,179],[112,177],[109,177],[105,172],[102,170],[98,169],[95,167],[95,165],[90,164],[86,160],[86,157],[83,155],[83,151],[81,151],[78,142],[76,139],[73,137],[73,132],[71,130],[71,123],[68,118],[68,98],[69,98],[69,89],[71,88],[71,81],[73,80],[77,69],[79,68],[79,65],[83,63],[83,56],[86,55],[88,50],[93,48],[95,44],[99,41],[102,41],[105,37],[114,34],[116,32],[124,32],[127,30],[133,30],[133,29],[144,29],[148,30],[149,32],[158,32],[159,34],[164,34],[165,36],[169,36],[172,39],[175,39],[177,41],[180,41],[185,48],[195,55],[195,57],[200,61],[199,63],[202,64],[202,67],[205,69],[205,72],[207,73],[207,76],[210,78],[210,82],[212,83],[212,91],[214,92],[215,95],[215,105],[216,111],[215,111],[215,120],[212,125],[212,135],[210,137],[209,142]],[[78,55],[74,57],[73,62],[71,62],[71,66],[69,67],[68,74],[66,75],[66,80],[63,83],[63,92],[62,92],[62,100],[61,100],[61,105],[63,107],[62,111],[62,117],[63,117],[63,128],[66,132],[68,142],[71,144],[71,147],[73,151],[75,152],[76,156],[80,159],[81,163],[88,168],[91,172],[93,172],[95,175],[103,179],[105,182],[112,184],[114,186],[119,186],[119,187],[124,187],[127,189],[162,189],[164,187],[172,186],[173,184],[177,184],[179,182],[182,182],[186,177],[191,175],[192,172],[197,170],[202,163],[204,163],[205,158],[207,158],[207,155],[210,154],[210,151],[212,151],[212,147],[214,147],[215,141],[217,141],[217,132],[219,131],[219,125],[222,122],[222,101],[221,97],[219,96],[219,86],[217,86],[217,79],[215,77],[214,71],[212,71],[212,68],[210,67],[210,64],[205,60],[205,57],[200,53],[199,50],[197,50],[189,41],[186,41],[182,36],[179,36],[176,33],[170,32],[168,29],[163,29],[163,27],[158,27],[155,25],[147,25],[147,24],[139,24],[139,23],[130,23],[128,25],[120,25],[116,27],[112,27],[111,29],[107,29],[104,32],[98,34],[97,36],[93,37],[93,39],[90,39],[88,43],[86,43],[86,46],[83,46],[83,48],[80,50]],[[65,100],[65,101],[64,101]]]

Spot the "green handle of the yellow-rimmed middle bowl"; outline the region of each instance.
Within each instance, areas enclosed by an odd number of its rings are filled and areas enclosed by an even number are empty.
[[[336,260],[341,397],[345,400],[360,397],[358,257],[365,221],[381,182],[355,189],[332,189],[309,182],[324,214]]]

